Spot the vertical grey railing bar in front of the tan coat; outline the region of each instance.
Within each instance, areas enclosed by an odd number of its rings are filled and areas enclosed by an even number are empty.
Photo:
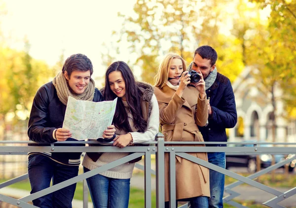
[[[176,154],[174,151],[170,151],[170,186],[169,187],[170,187],[170,208],[176,208]]]

